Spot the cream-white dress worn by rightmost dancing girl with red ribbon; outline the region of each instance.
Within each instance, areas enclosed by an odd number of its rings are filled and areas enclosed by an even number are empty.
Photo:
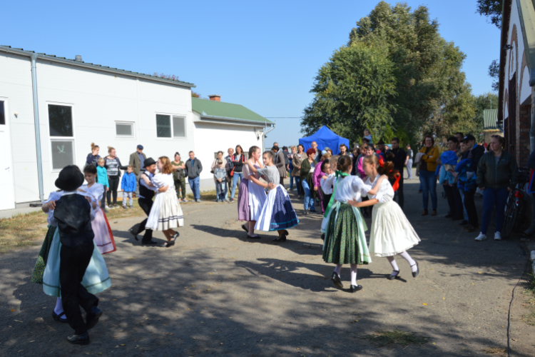
[[[367,178],[366,184],[375,186]],[[374,256],[394,256],[416,246],[420,238],[402,209],[394,201],[394,189],[388,180],[383,180],[375,196],[379,203],[373,206],[372,231],[370,232],[370,254]]]

